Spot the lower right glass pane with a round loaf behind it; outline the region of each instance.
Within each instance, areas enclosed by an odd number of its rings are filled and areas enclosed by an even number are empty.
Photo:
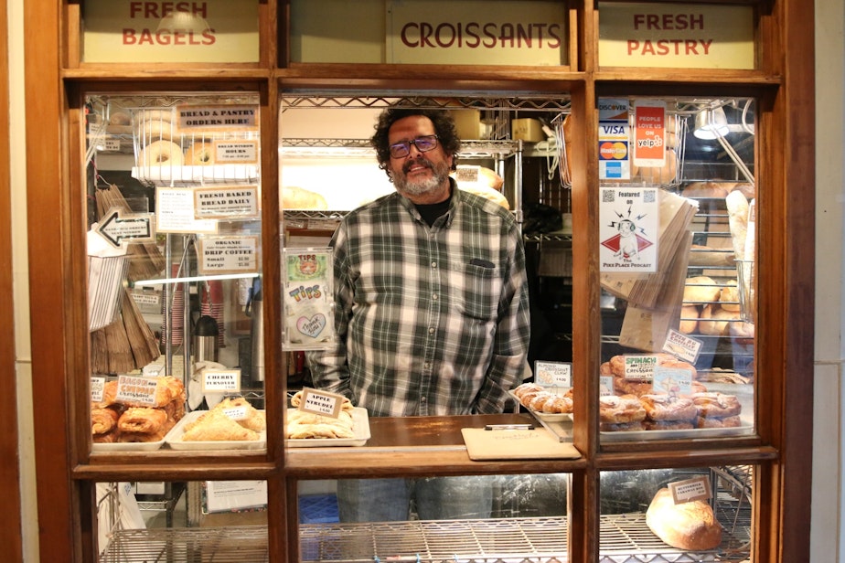
[[[748,561],[753,472],[747,465],[603,472],[599,560]]]

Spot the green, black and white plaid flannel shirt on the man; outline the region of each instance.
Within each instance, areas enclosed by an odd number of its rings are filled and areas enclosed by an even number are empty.
[[[370,416],[501,412],[524,372],[529,294],[519,226],[455,189],[430,228],[398,193],[342,221],[337,344],[309,353],[316,388]]]

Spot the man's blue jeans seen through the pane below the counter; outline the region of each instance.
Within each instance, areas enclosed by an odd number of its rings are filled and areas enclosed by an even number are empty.
[[[350,479],[337,482],[341,522],[488,518],[493,477]]]

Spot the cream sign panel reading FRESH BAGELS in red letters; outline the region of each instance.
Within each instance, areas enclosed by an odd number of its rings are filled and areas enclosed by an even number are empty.
[[[85,62],[258,62],[259,0],[86,0]]]

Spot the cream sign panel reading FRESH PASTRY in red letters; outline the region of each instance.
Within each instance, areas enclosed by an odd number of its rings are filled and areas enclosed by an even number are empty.
[[[754,63],[752,6],[599,6],[602,67],[754,69]]]

